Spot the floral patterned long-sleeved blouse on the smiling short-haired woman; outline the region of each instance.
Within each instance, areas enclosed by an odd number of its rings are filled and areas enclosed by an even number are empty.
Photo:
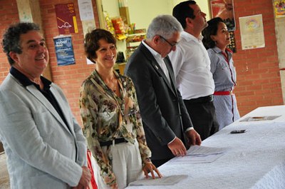
[[[100,175],[107,185],[113,185],[116,180],[112,171],[110,148],[103,150],[100,142],[125,138],[128,142],[135,143],[137,138],[142,164],[149,161],[151,156],[142,128],[133,81],[115,71],[114,74],[119,81],[120,97],[104,83],[97,71],[93,71],[81,86],[79,100],[83,133],[88,148],[100,166]]]

